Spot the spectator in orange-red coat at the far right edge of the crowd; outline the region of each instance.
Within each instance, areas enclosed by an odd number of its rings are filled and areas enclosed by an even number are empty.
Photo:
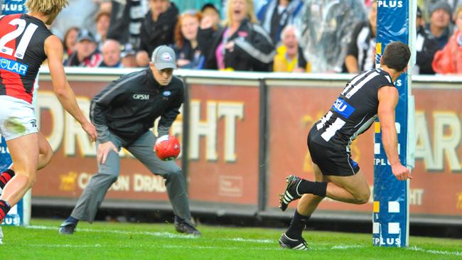
[[[433,69],[441,74],[462,74],[462,6],[454,13],[456,31],[448,40],[443,50],[435,53]]]

